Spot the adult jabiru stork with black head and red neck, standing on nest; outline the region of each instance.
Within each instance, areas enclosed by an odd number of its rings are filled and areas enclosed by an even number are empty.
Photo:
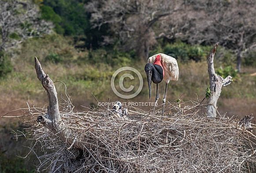
[[[149,100],[151,99],[152,82],[156,83],[156,103],[158,101],[158,83],[160,83],[162,80],[166,82],[163,96],[163,115],[164,104],[166,101],[167,85],[170,80],[178,80],[178,63],[176,59],[171,56],[162,53],[156,54],[148,58],[148,62],[145,65],[145,72],[148,79]]]

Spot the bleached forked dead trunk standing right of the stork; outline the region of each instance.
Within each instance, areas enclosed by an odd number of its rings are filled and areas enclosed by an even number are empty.
[[[207,107],[207,114],[210,118],[216,117],[216,110],[217,110],[217,101],[219,99],[221,88],[222,86],[226,86],[231,83],[232,77],[227,76],[225,79],[223,77],[217,75],[214,70],[213,65],[213,59],[216,51],[216,47],[218,47],[218,44],[215,45],[213,49],[211,49],[211,52],[208,54],[207,60],[208,60],[208,73],[209,73],[209,79],[210,79],[210,88],[211,88],[211,95],[209,97],[209,105]]]

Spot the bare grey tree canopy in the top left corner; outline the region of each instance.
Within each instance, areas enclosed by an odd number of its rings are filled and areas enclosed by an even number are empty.
[[[1,0],[0,51],[50,33],[52,24],[39,20],[39,14],[39,8],[30,0]]]

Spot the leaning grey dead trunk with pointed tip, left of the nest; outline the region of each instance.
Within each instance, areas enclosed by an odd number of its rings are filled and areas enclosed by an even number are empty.
[[[37,117],[37,122],[44,124],[52,133],[56,134],[56,136],[60,137],[63,141],[66,141],[68,144],[74,145],[76,148],[81,148],[76,142],[75,133],[68,129],[61,121],[57,92],[54,83],[52,82],[52,79],[50,79],[50,77],[45,74],[41,68],[40,62],[36,57],[35,69],[37,72],[37,78],[41,81],[43,87],[47,91],[49,100],[47,115],[39,115]]]

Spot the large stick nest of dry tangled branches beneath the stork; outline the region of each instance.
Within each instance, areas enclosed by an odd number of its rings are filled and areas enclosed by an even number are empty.
[[[37,157],[38,172],[233,173],[254,169],[253,127],[248,129],[245,120],[235,117],[207,118],[204,106],[179,100],[168,103],[163,116],[157,108],[154,112],[128,108],[127,118],[118,118],[108,108],[72,112],[67,101],[60,114],[75,136],[71,145],[37,122],[47,109],[28,108],[23,116],[44,152]],[[83,150],[73,146],[76,141],[82,141]]]

